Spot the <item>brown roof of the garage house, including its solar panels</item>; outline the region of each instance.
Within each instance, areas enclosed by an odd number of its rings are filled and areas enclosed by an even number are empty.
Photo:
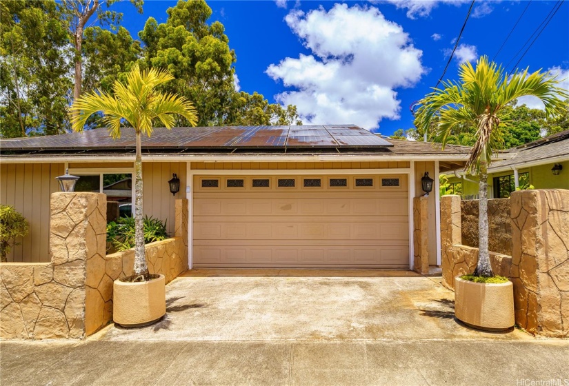
[[[105,128],[81,133],[0,139],[2,156],[132,154],[136,137],[124,128],[112,139]],[[384,139],[355,125],[211,126],[156,128],[142,137],[144,154],[314,154],[370,153],[390,155],[468,154],[470,148],[438,143]]]

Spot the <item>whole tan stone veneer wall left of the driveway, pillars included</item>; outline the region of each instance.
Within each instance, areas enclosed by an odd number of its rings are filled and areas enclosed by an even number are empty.
[[[134,252],[106,256],[106,196],[54,193],[51,263],[0,263],[0,338],[83,338],[112,321],[112,282]],[[146,245],[150,272],[188,268],[188,200],[176,201],[174,238]]]

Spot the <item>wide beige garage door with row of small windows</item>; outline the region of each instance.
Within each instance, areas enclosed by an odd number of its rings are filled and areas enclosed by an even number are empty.
[[[195,176],[196,267],[408,267],[407,175]]]

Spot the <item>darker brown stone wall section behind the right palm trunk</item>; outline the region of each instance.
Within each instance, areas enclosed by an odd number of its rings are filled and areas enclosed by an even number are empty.
[[[494,252],[512,255],[510,199],[488,200],[488,241]],[[478,247],[478,200],[461,201],[462,244]]]

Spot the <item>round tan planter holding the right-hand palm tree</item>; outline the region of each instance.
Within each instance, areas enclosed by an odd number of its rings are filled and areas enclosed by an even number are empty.
[[[503,331],[515,323],[514,285],[455,278],[455,316],[470,327]]]

